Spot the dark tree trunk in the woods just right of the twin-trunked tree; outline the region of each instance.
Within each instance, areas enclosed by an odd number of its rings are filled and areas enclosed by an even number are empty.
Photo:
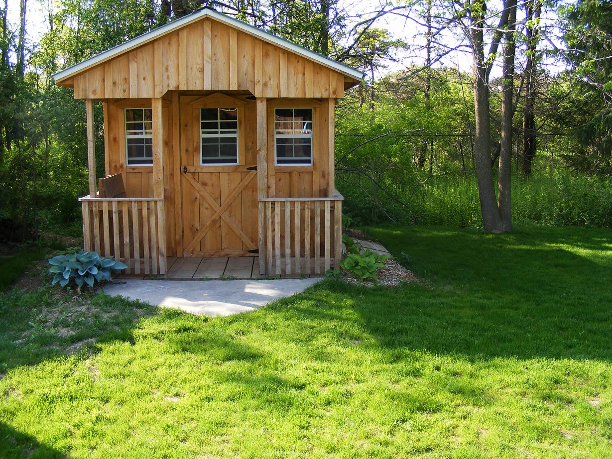
[[[541,0],[528,0],[525,2],[527,63],[525,66],[526,91],[523,110],[523,157],[521,159],[521,172],[526,175],[531,174],[536,152],[535,69],[537,67],[537,59],[535,53],[539,36],[537,21],[539,21],[541,12]]]

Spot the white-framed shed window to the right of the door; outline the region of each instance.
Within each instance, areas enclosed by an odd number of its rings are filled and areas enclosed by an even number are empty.
[[[312,164],[312,108],[274,111],[277,165]]]

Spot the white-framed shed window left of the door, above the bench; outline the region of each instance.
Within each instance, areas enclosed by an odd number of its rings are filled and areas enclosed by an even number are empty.
[[[153,164],[151,108],[125,109],[125,154],[128,166]]]

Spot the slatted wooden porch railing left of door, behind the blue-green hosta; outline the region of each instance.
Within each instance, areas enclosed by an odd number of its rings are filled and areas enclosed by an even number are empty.
[[[85,250],[127,264],[127,274],[165,274],[163,198],[79,198]]]

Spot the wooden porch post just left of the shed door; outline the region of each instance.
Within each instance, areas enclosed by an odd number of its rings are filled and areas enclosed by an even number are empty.
[[[159,244],[159,273],[166,274],[166,228],[163,184],[163,101],[161,97],[151,99],[151,116],[153,124],[153,195],[162,198],[157,201],[157,236]],[[154,231],[154,229],[153,229]]]

